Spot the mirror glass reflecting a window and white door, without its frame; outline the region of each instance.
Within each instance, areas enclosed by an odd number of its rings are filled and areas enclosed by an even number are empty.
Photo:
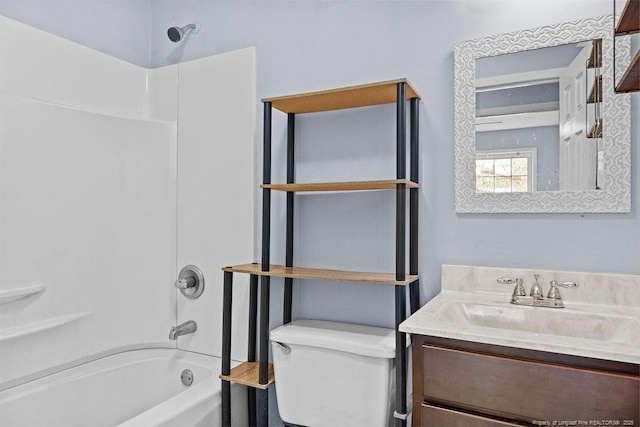
[[[476,192],[598,189],[602,40],[476,59]],[[596,59],[596,60],[594,60]],[[562,96],[561,96],[562,93]],[[597,93],[597,92],[596,92]]]

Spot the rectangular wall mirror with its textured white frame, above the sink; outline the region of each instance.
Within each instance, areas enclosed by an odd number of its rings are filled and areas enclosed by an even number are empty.
[[[613,93],[612,25],[456,44],[456,212],[630,210],[630,100]],[[628,43],[616,49],[628,61]]]

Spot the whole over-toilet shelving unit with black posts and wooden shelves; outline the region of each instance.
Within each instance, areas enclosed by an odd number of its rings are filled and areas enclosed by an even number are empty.
[[[396,326],[396,424],[406,425],[407,411],[407,349],[406,335],[398,326],[407,316],[407,288],[411,312],[419,308],[418,277],[418,105],[420,96],[406,79],[384,81],[360,86],[332,89],[263,99],[263,184],[262,188],[262,260],[261,263],[223,268],[223,333],[222,333],[222,425],[231,424],[230,384],[248,386],[250,425],[268,424],[268,391],[274,383],[273,366],[269,363],[269,303],[271,277],[284,278],[283,323],[291,322],[294,280],[356,282],[395,287]],[[406,104],[410,112],[410,167],[407,177]],[[297,114],[342,110],[379,104],[396,104],[396,178],[377,181],[295,182],[295,117]],[[271,123],[273,108],[287,115],[287,182],[271,183]],[[295,193],[387,190],[396,193],[395,272],[356,272],[333,269],[305,268],[293,265],[293,230]],[[286,192],[286,260],[285,265],[270,264],[271,191]],[[409,192],[407,215],[406,193]],[[407,216],[409,217],[409,268],[406,260]],[[231,303],[233,275],[250,275],[249,334],[247,361],[231,370]],[[260,280],[258,280],[260,278]],[[260,313],[258,316],[258,282],[260,282]],[[259,352],[256,341],[259,342]],[[256,389],[261,390],[260,395]],[[256,401],[259,397],[260,402]]]

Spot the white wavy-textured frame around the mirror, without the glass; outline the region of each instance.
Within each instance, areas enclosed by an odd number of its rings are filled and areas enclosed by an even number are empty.
[[[475,191],[476,59],[602,39],[603,157],[601,189],[526,193]],[[616,68],[629,61],[628,40],[616,42]],[[628,94],[614,94],[613,16],[600,16],[456,43],[455,198],[457,213],[582,213],[631,210],[631,108]]]

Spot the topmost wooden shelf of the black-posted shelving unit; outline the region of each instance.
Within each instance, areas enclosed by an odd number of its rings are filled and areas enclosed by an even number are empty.
[[[262,101],[271,102],[273,108],[284,113],[299,114],[389,104],[396,102],[396,86],[401,82],[406,83],[407,99],[420,98],[418,92],[411,87],[407,79],[397,79],[319,92],[265,98]]]

